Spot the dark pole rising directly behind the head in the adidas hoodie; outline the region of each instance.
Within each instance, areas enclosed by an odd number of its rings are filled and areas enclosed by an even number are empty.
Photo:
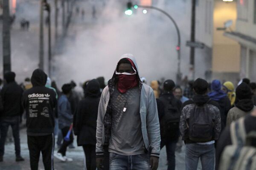
[[[44,70],[44,0],[40,6],[39,68]]]

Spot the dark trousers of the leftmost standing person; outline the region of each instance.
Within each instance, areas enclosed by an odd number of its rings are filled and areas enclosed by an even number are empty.
[[[12,127],[12,135],[15,144],[15,154],[20,156],[20,116],[2,118],[0,122],[0,156],[4,154],[4,144],[6,142],[6,136],[9,126]]]

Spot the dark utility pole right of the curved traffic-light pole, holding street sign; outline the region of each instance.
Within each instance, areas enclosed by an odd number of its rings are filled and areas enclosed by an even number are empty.
[[[195,2],[192,0],[192,10],[191,10],[191,42],[195,42]],[[190,47],[190,65],[192,66],[192,79],[195,79],[195,47]]]

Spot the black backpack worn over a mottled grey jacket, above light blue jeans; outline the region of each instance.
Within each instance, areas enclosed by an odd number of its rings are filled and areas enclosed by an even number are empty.
[[[209,142],[213,139],[215,120],[212,119],[211,111],[207,106],[209,101],[202,106],[195,104],[194,111],[186,120],[189,139],[193,142]]]

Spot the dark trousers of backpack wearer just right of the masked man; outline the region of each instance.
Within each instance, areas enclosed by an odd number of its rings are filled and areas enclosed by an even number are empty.
[[[176,150],[177,141],[169,141],[169,142],[162,142],[160,144],[160,148],[162,149],[166,146],[166,155],[168,161],[168,168],[167,170],[175,170],[175,150]]]

